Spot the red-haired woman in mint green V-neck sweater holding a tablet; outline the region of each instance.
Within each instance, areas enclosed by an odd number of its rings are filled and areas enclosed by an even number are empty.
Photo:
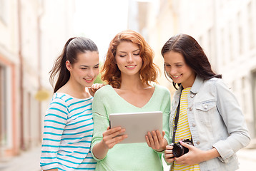
[[[152,85],[157,79],[152,48],[135,31],[122,31],[109,44],[102,68],[108,83],[94,95],[92,155],[96,170],[163,170],[162,151],[169,140],[170,94]],[[109,128],[110,113],[162,111],[163,133],[145,135],[146,142],[119,144],[124,128]],[[124,133],[125,134],[125,133]]]

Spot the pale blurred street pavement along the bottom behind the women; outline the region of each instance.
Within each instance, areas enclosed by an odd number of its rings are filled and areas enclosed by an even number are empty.
[[[240,162],[238,171],[256,170],[256,148],[244,148],[237,152]],[[40,147],[22,152],[21,155],[6,161],[0,161],[0,171],[39,171]],[[164,171],[169,166],[164,163]]]

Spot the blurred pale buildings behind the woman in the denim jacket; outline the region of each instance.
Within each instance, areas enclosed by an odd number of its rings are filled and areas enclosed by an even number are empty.
[[[256,1],[159,0],[137,2],[137,11],[147,11],[136,19],[137,31],[145,33],[160,63],[161,48],[174,34],[187,33],[200,42],[213,70],[235,93],[256,138]]]

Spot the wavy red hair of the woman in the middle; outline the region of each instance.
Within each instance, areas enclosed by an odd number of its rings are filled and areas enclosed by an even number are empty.
[[[120,88],[122,81],[121,71],[117,67],[115,56],[117,46],[122,41],[129,41],[139,46],[139,56],[142,58],[142,68],[139,73],[142,83],[149,86],[150,82],[157,82],[159,68],[153,63],[154,51],[139,33],[131,30],[118,33],[109,43],[104,66],[102,66],[102,80],[113,88]]]

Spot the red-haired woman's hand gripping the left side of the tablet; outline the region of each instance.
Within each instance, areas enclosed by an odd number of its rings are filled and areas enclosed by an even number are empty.
[[[128,135],[119,135],[124,132],[125,129],[121,127],[115,127],[111,129],[109,129],[108,127],[107,130],[102,134],[102,144],[107,149],[111,149],[112,147],[114,147],[114,145],[128,137]]]

